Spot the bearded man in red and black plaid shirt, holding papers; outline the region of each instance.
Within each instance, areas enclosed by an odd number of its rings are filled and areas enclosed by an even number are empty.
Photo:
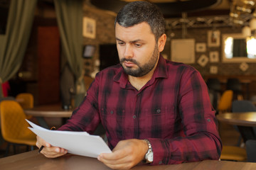
[[[115,36],[120,64],[98,73],[85,100],[59,130],[106,130],[112,153],[98,159],[112,169],[143,160],[180,164],[219,159],[221,141],[208,90],[196,69],[164,60],[164,18],[156,6],[134,1],[119,11]],[[184,49],[186,50],[186,49]],[[45,146],[46,157],[67,151]]]

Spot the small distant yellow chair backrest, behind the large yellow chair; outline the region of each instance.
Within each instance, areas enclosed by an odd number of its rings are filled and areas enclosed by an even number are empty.
[[[22,93],[16,96],[16,100],[20,103],[23,109],[33,108],[33,95],[29,93]]]

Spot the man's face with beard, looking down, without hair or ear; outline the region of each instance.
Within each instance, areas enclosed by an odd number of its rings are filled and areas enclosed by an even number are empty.
[[[149,73],[159,59],[159,48],[148,23],[115,27],[117,51],[124,72],[133,77]]]

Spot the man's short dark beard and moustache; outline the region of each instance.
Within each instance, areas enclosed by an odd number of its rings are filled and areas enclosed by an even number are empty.
[[[156,62],[158,60],[159,57],[159,50],[157,45],[155,45],[154,47],[154,51],[151,55],[151,57],[149,58],[149,61],[146,62],[145,64],[140,64],[139,62],[137,62],[136,60],[132,59],[132,58],[123,58],[122,60],[120,60],[120,63],[124,69],[124,72],[132,77],[143,77],[144,75],[148,74],[156,65]],[[134,64],[136,64],[138,66],[137,69],[133,69],[132,67],[124,67],[123,66],[123,62],[133,62]]]

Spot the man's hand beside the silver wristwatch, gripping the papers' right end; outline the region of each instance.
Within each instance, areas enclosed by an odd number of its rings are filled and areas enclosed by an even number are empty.
[[[148,149],[145,140],[122,140],[112,153],[102,153],[97,159],[111,169],[131,169],[144,159]]]

